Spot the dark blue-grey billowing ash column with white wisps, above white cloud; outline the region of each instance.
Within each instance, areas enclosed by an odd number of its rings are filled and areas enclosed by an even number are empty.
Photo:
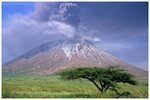
[[[80,23],[79,6],[75,3],[61,3],[58,10],[50,19],[63,21],[74,27],[78,27]]]

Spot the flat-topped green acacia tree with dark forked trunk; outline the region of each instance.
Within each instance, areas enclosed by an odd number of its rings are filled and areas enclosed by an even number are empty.
[[[136,85],[136,81],[133,80],[133,75],[127,73],[123,69],[117,67],[107,68],[89,68],[81,67],[75,69],[66,69],[58,73],[63,79],[88,79],[91,81],[101,92],[106,92],[108,89],[116,90],[117,83],[129,83]]]

